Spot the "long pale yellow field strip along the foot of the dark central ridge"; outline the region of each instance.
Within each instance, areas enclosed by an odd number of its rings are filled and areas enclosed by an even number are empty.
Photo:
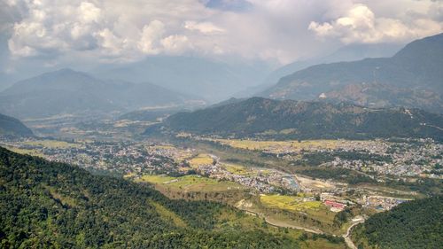
[[[306,140],[306,141],[253,141],[236,139],[213,139],[214,142],[229,145],[238,149],[269,152],[299,152],[301,150],[334,149],[338,140]]]

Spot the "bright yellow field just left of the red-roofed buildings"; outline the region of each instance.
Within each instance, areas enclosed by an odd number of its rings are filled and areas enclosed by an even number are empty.
[[[289,211],[306,211],[308,209],[319,209],[322,206],[320,201],[303,201],[303,198],[282,195],[263,195],[260,202],[264,206],[284,209]]]

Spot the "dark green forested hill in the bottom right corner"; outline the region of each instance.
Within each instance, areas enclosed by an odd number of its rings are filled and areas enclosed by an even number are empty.
[[[359,248],[441,248],[443,197],[410,201],[375,214],[352,233]]]

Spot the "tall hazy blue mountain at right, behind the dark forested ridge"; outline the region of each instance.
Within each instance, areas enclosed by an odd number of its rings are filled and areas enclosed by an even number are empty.
[[[392,58],[366,58],[310,66],[283,77],[263,97],[373,107],[408,106],[443,110],[443,34],[409,43]]]

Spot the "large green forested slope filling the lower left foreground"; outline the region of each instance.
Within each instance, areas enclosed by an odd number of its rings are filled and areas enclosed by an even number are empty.
[[[1,147],[0,183],[2,248],[312,248],[314,242],[229,206],[171,200],[146,185]],[[316,248],[344,248],[337,239],[315,239]]]

